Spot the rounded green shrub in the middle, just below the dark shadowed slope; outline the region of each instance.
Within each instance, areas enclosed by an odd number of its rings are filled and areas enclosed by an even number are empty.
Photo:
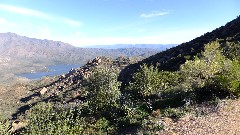
[[[168,71],[158,71],[154,66],[142,65],[138,72],[133,75],[133,82],[130,83],[130,90],[136,91],[142,97],[156,95],[179,83],[179,74]]]

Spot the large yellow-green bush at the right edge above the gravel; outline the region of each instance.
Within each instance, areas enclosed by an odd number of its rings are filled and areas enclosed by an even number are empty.
[[[207,44],[204,49],[200,58],[181,65],[182,88],[195,91],[200,100],[226,97],[228,93],[240,96],[239,61],[226,58],[217,41]]]

